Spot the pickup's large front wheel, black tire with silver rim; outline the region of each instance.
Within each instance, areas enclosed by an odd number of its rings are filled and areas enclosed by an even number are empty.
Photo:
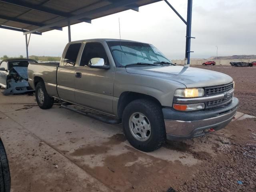
[[[144,118],[143,115],[145,116]],[[138,122],[138,126],[137,123],[134,124],[132,122],[132,119]],[[142,122],[144,123],[142,124]],[[144,152],[154,151],[160,148],[166,141],[162,108],[151,100],[138,99],[130,102],[124,109],[122,125],[127,140],[138,150]],[[148,127],[150,127],[150,130],[147,130]],[[134,134],[134,132],[137,132],[136,128],[138,133]],[[148,135],[147,138],[142,138],[140,131],[145,136]]]

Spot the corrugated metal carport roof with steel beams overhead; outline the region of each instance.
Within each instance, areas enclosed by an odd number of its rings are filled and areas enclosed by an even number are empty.
[[[0,25],[46,32],[68,26],[67,18],[70,24],[90,22],[158,1],[161,0],[0,0]],[[72,19],[81,14],[86,17]],[[56,25],[43,28],[55,22]]]

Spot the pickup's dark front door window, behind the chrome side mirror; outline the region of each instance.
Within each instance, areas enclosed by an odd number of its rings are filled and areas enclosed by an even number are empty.
[[[88,66],[89,60],[92,58],[103,58],[105,64],[108,65],[108,57],[101,43],[89,42],[85,44],[80,66]]]

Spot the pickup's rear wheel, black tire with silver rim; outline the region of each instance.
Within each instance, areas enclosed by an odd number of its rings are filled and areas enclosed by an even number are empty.
[[[50,109],[53,106],[54,99],[48,95],[43,81],[36,85],[36,102],[41,109]]]

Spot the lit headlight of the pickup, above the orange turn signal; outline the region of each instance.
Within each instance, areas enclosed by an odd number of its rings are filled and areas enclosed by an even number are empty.
[[[192,98],[204,96],[204,89],[176,89],[174,97]]]

